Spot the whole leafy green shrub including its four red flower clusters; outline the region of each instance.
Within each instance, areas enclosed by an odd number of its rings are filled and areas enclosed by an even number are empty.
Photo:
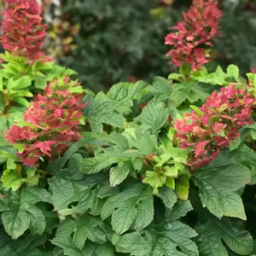
[[[256,74],[203,66],[217,3],[166,36],[178,73],[95,94],[27,44],[45,36],[36,0],[6,2],[0,255],[254,255]]]

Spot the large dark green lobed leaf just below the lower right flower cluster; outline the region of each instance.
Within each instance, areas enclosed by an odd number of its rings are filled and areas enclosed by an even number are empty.
[[[250,171],[235,160],[220,155],[208,166],[196,170],[194,182],[199,188],[203,207],[218,218],[223,216],[246,219],[238,189],[250,180]]]

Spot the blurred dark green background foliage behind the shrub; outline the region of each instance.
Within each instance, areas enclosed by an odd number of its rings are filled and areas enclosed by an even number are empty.
[[[166,77],[165,36],[191,0],[38,0],[49,32],[45,49],[79,73],[84,87],[108,90],[119,81]],[[219,0],[223,35],[207,66],[256,68],[256,1]]]

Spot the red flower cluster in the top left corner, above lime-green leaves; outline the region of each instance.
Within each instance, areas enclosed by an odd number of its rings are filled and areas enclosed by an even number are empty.
[[[30,61],[48,61],[40,50],[46,26],[42,25],[42,10],[37,0],[6,0],[6,3],[8,8],[3,12],[1,38],[3,49],[26,56]]]

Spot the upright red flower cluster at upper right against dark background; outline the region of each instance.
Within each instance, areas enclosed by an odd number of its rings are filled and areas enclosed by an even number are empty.
[[[214,0],[194,0],[188,13],[183,13],[183,21],[173,26],[166,36],[166,44],[172,45],[166,55],[172,57],[177,67],[189,63],[196,70],[209,61],[209,55],[203,48],[212,47],[212,38],[218,36],[218,19],[222,12]]]

